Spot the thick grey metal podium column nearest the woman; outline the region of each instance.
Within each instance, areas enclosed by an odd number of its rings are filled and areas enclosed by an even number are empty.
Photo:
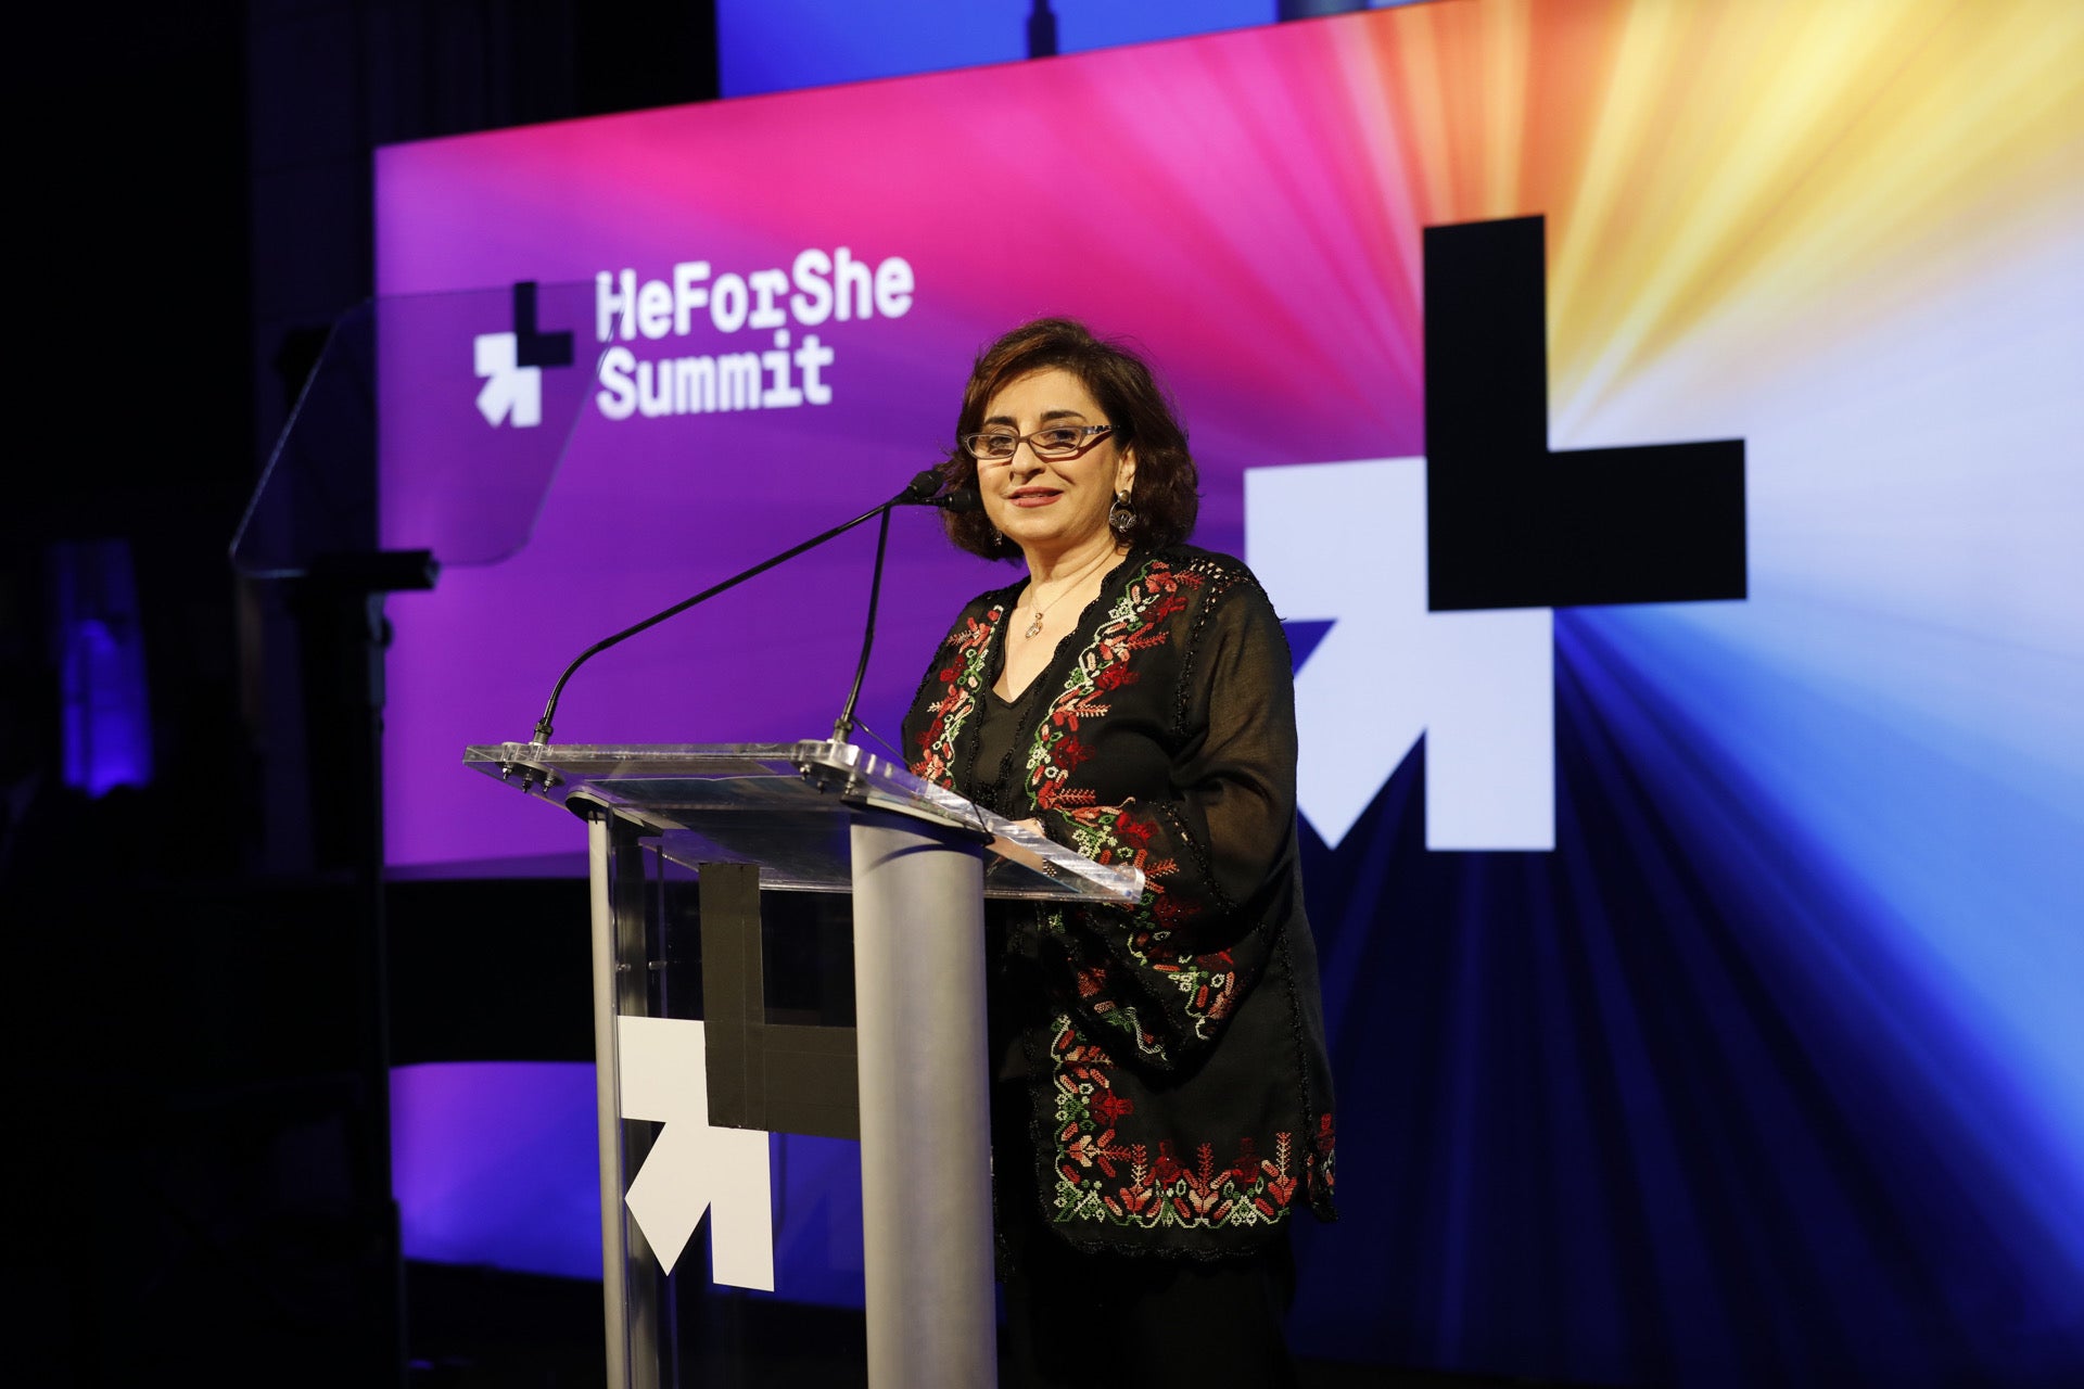
[[[852,852],[869,1385],[990,1389],[984,850],[865,810]]]

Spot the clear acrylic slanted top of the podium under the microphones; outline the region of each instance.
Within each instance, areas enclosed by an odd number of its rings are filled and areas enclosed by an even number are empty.
[[[988,845],[986,898],[1134,904],[1144,889],[1142,870],[1096,864],[852,743],[488,743],[463,762],[536,800],[634,820],[686,868],[759,864],[761,887],[846,891],[848,825],[884,810]]]

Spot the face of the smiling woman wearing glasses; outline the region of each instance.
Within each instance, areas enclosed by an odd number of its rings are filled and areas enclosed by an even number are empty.
[[[1048,369],[1019,377],[984,406],[979,429],[1027,435],[1044,425],[1109,425],[1107,412],[1069,371]],[[1021,444],[1011,460],[977,462],[984,514],[1019,546],[1029,562],[1057,560],[1100,539],[1113,544],[1107,510],[1136,477],[1136,456],[1113,435],[1073,458],[1036,458]]]

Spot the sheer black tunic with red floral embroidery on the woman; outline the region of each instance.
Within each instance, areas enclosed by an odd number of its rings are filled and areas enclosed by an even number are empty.
[[[1205,1258],[1261,1243],[1296,1206],[1330,1220],[1280,621],[1230,556],[1130,554],[979,766],[1017,594],[957,616],[904,718],[911,768],[1146,881],[1136,908],[986,916],[994,1066],[1025,1077],[1040,1214],[1080,1247]]]

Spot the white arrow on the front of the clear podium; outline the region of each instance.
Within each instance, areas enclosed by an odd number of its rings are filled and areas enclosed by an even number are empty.
[[[767,1135],[709,1127],[702,1025],[686,1018],[615,1018],[623,1118],[663,1122],[623,1202],[661,1268],[715,1210],[709,1245],[717,1283],[775,1289],[775,1237]]]

